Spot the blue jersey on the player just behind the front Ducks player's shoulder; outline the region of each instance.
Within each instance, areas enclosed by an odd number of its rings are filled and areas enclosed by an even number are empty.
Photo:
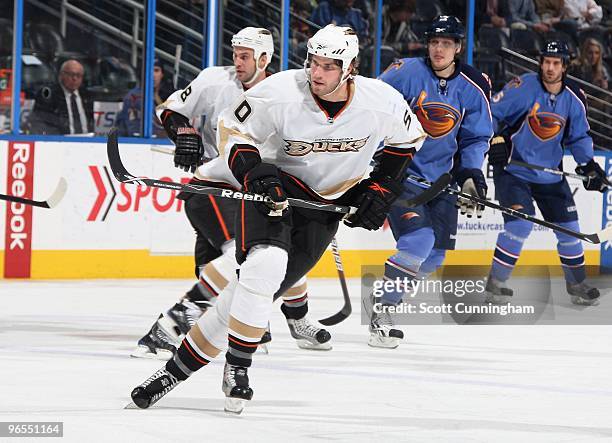
[[[482,73],[458,62],[444,80],[425,58],[405,58],[379,78],[404,95],[428,135],[408,167],[410,174],[434,181],[454,166],[481,168],[493,135],[490,85]]]

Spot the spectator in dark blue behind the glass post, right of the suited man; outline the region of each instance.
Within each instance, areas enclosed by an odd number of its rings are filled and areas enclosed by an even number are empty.
[[[164,82],[164,66],[159,58],[153,62],[153,100],[155,106],[161,105],[173,88]],[[142,89],[140,86],[128,91],[123,99],[123,108],[117,114],[115,126],[121,136],[138,137],[142,135]],[[155,114],[153,114],[153,136],[166,137],[166,131]]]

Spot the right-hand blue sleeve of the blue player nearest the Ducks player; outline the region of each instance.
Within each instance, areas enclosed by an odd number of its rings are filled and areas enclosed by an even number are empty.
[[[471,72],[466,77],[474,87],[469,90],[464,116],[457,133],[457,147],[461,155],[461,167],[480,169],[493,136],[490,87],[479,72]]]

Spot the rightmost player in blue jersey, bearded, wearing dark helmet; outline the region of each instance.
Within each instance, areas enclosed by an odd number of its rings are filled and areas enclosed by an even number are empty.
[[[589,177],[589,191],[606,188],[606,177],[593,160],[593,141],[588,135],[586,97],[565,73],[570,59],[565,42],[546,42],[540,54],[539,73],[522,75],[506,85],[492,99],[494,128],[489,151],[495,191],[499,202],[534,215],[533,201],[543,217],[579,231],[576,204],[565,178],[549,172],[508,165],[509,158],[548,168],[558,168],[563,148],[578,163],[576,172]],[[507,303],[512,290],[507,287],[532,223],[504,215],[504,231],[497,237],[493,264],[486,286],[486,300]],[[599,291],[585,283],[584,251],[579,240],[555,232],[557,251],[565,274],[567,292],[575,304],[598,303]]]

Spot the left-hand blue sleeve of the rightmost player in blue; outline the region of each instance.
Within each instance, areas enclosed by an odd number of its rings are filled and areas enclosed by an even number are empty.
[[[501,92],[497,93],[491,100],[491,112],[493,114],[493,130],[498,133],[505,126],[514,126],[529,110],[531,102],[525,100],[525,85],[523,78],[517,77],[511,80]]]

